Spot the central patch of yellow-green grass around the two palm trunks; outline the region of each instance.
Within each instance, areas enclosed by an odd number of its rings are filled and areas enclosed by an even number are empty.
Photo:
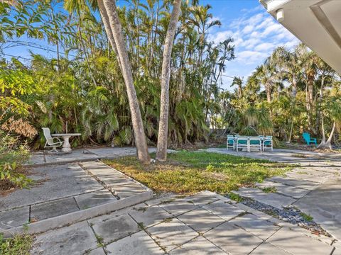
[[[229,193],[240,186],[249,186],[271,176],[281,175],[292,168],[268,160],[212,152],[168,154],[167,162],[150,165],[141,164],[136,157],[104,160],[104,163],[158,193],[183,194],[205,190]]]

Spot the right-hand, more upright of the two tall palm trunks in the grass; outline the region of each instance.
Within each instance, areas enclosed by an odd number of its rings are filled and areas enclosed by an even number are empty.
[[[169,80],[171,77],[171,55],[176,31],[180,15],[180,7],[182,0],[175,0],[171,21],[165,39],[165,47],[163,49],[163,61],[161,72],[161,109],[160,122],[158,125],[158,149],[156,159],[166,161],[167,159],[167,142],[168,142],[168,113],[169,113]]]

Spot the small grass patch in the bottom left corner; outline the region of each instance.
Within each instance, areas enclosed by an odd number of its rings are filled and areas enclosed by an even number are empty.
[[[0,234],[1,255],[29,255],[32,244],[33,237],[29,234],[16,234],[7,239]]]

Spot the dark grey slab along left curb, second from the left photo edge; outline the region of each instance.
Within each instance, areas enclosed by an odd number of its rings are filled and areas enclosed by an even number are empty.
[[[45,220],[80,210],[75,198],[62,198],[31,206],[31,219]]]

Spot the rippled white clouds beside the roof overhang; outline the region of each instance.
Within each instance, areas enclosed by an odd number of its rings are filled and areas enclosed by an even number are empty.
[[[215,43],[229,37],[234,39],[236,58],[226,66],[227,73],[232,77],[247,77],[247,74],[262,64],[276,47],[286,46],[290,49],[299,42],[266,13],[262,6],[241,12],[240,18],[227,24],[222,23],[222,27],[210,35],[210,39]]]

